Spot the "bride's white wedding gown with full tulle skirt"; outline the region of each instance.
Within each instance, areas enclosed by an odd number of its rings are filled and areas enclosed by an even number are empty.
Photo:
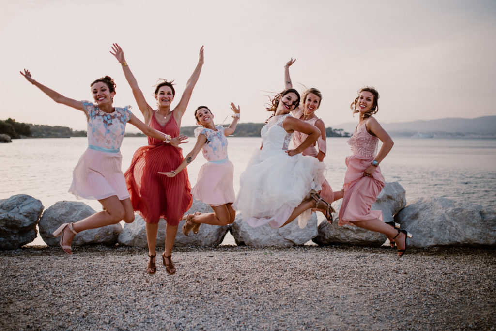
[[[292,136],[283,128],[288,116],[274,116],[262,128],[263,147],[255,151],[241,174],[241,188],[233,207],[241,211],[243,221],[251,227],[267,223],[272,228],[281,227],[311,190],[321,189],[323,162],[286,153]],[[306,226],[310,216],[311,209],[300,216],[300,227]]]

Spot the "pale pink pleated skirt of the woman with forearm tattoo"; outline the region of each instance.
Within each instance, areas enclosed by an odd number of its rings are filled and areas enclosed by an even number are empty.
[[[231,161],[224,163],[207,162],[198,173],[196,185],[191,190],[194,199],[210,206],[232,203],[236,199],[233,187],[234,165]]]

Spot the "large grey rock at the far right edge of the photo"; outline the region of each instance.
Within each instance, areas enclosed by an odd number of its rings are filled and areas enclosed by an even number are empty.
[[[408,247],[496,246],[496,212],[478,204],[421,198],[395,220],[413,235]]]

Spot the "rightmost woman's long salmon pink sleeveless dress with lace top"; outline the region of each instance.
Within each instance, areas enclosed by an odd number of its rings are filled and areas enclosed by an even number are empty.
[[[346,157],[346,174],[344,177],[344,197],[339,209],[339,225],[356,221],[382,220],[382,211],[371,210],[380,191],[384,187],[384,177],[377,167],[373,177],[364,176],[364,171],[371,164],[377,153],[379,138],[367,132],[367,122],[357,128],[348,139],[353,155]]]

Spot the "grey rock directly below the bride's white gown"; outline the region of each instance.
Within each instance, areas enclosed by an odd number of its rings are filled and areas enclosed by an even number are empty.
[[[303,229],[298,225],[298,218],[288,225],[272,229],[268,224],[252,228],[240,214],[230,225],[231,234],[238,246],[247,245],[254,247],[291,247],[303,245],[317,235],[317,216],[312,213],[307,226]]]

